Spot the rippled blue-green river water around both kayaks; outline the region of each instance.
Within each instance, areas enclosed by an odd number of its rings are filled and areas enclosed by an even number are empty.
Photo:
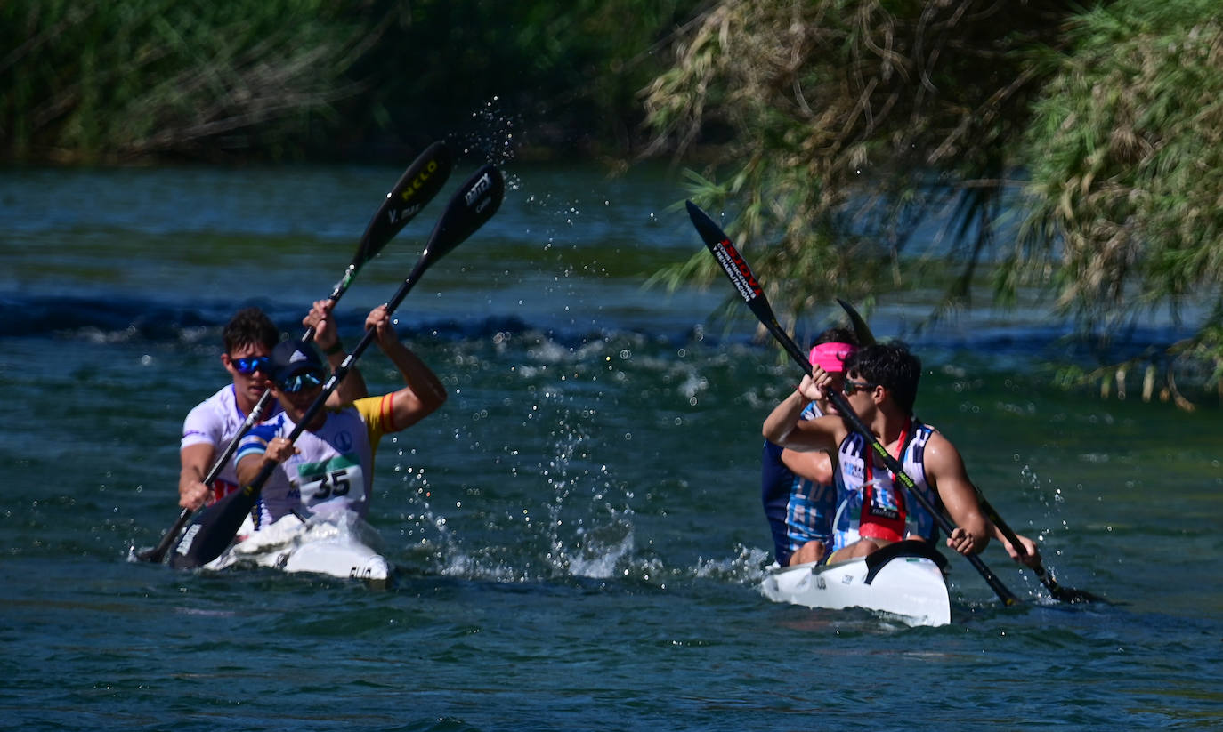
[[[394,587],[128,563],[177,516],[220,325],[253,302],[296,334],[399,172],[0,175],[0,727],[1223,725],[1218,409],[1051,387],[1038,309],[912,337],[918,412],[1064,585],[1118,604],[1053,602],[997,547],[1025,602],[953,557],[943,628],[766,601],[758,430],[794,371],[711,318],[728,292],[641,288],[701,247],[663,171],[510,165],[503,210],[404,301],[451,398],[379,451]],[[346,342],[442,205],[360,274]],[[889,307],[876,331],[911,336]],[[397,385],[375,350],[361,368]]]

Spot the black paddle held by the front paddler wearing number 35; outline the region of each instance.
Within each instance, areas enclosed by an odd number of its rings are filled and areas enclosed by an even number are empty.
[[[416,266],[412,268],[412,273],[400,285],[395,296],[386,302],[388,313],[395,312],[395,308],[399,307],[399,303],[404,301],[404,297],[407,296],[427,269],[475,233],[477,229],[497,213],[504,193],[505,182],[501,178],[501,174],[492,165],[481,167],[476,171],[476,175],[462,185],[450,199],[446,210],[442,214],[442,219],[438,220],[437,226],[433,229],[433,233],[429,235],[428,243],[426,243]],[[344,358],[344,363],[327,380],[323,385],[323,391],[311,403],[309,408],[306,409],[302,418],[297,420],[292,431],[289,433],[287,440],[290,444],[297,441],[297,437],[306,430],[306,425],[323,409],[327,397],[335,391],[336,385],[344,379],[361,354],[364,353],[366,348],[369,347],[374,336],[375,331],[373,329],[367,330],[364,337],[357,343],[357,347]],[[264,483],[268,481],[268,478],[279,467],[276,463],[264,466],[249,485],[242,486],[241,490],[229,494],[202,511],[199,521],[187,528],[182,540],[175,547],[174,554],[170,555],[170,566],[179,569],[191,569],[201,567],[220,556],[230,545],[230,541],[232,541],[234,535],[237,534],[246,514],[254,506]]]

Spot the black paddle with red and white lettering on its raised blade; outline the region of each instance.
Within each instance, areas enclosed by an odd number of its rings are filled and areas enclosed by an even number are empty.
[[[794,339],[791,339],[777,321],[777,315],[773,314],[773,308],[769,306],[768,298],[764,297],[764,291],[761,288],[759,282],[756,281],[756,275],[752,274],[747,262],[744,260],[744,258],[739,254],[739,251],[730,243],[730,237],[728,237],[722,229],[714,224],[713,219],[711,219],[708,214],[702,211],[691,200],[687,202],[687,210],[689,216],[692,219],[692,225],[696,226],[697,232],[704,241],[704,246],[709,248],[709,253],[713,254],[713,258],[722,266],[722,270],[726,273],[728,277],[730,277],[730,282],[735,286],[735,290],[739,291],[739,295],[742,296],[747,307],[756,314],[756,318],[759,319],[761,324],[764,325],[770,334],[773,334],[773,337],[781,343],[785,351],[790,354],[790,358],[801,365],[805,373],[810,374],[811,362],[807,359],[807,354],[799,348],[799,345],[794,342]],[[929,499],[917,490],[917,485],[914,483],[914,479],[904,472],[896,458],[892,457],[887,448],[879,444],[870,428],[867,428],[866,424],[862,423],[862,419],[854,412],[852,408],[850,408],[845,397],[829,390],[828,398],[837,407],[837,411],[840,412],[841,417],[850,423],[854,430],[871,444],[872,450],[874,450],[879,458],[883,459],[883,464],[885,464],[896,479],[900,480],[906,489],[909,489],[909,494],[914,496],[917,502],[931,513],[931,516],[934,517],[939,528],[950,535],[951,532],[955,530],[955,525],[950,522],[950,519],[943,516],[940,511],[936,510]],[[977,572],[981,573],[981,577],[985,578],[986,583],[994,591],[994,594],[998,595],[998,599],[1000,599],[1003,604],[1014,605],[1019,602],[1019,599],[1009,589],[1007,589],[1005,585],[1003,585],[1002,580],[998,579],[993,571],[989,569],[983,561],[981,561],[981,557],[971,554],[964,556],[977,569]]]

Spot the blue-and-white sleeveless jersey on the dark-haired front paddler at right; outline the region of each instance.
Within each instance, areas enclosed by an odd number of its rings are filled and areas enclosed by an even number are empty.
[[[940,508],[942,501],[938,494],[926,481],[926,463],[923,459],[926,442],[929,441],[934,428],[915,419],[907,431],[910,435],[901,446],[898,462],[900,462],[900,467],[904,468],[905,473],[914,479],[917,490],[921,490],[922,495],[929,499],[931,503]],[[907,535],[934,541],[938,538],[938,527],[934,523],[934,517],[921,503],[910,500],[904,484],[894,480],[890,470],[874,462],[871,463],[871,467],[867,467],[863,456],[874,461],[874,450],[857,433],[850,433],[841,441],[837,451],[838,475],[840,477],[841,490],[837,514],[833,518],[833,551],[843,549],[861,538],[860,528],[863,513],[867,513],[868,519],[872,513],[882,518],[882,521],[877,522],[877,525],[883,525],[884,530],[873,532],[876,534],[874,538],[894,541],[904,539],[904,535],[896,535],[895,538],[888,535],[889,532],[887,528],[899,525],[893,524],[893,521],[898,517],[903,521],[907,514],[907,518],[916,523],[916,527],[909,530]],[[870,480],[870,485],[867,485],[867,480]],[[863,505],[865,497],[870,497],[870,505]],[[867,521],[867,523],[871,523],[871,521]]]

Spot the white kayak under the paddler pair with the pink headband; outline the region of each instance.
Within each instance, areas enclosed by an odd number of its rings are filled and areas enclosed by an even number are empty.
[[[823,610],[863,607],[909,626],[945,626],[951,622],[945,565],[925,541],[898,541],[835,565],[773,568],[761,593],[774,602]]]

